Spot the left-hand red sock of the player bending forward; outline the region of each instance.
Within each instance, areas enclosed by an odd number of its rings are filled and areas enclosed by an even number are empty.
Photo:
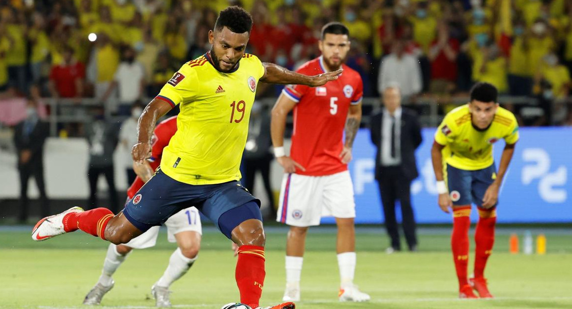
[[[459,288],[468,284],[468,228],[471,226],[471,205],[454,207],[453,209],[453,232],[451,234],[451,249],[455,271],[459,279]]]

